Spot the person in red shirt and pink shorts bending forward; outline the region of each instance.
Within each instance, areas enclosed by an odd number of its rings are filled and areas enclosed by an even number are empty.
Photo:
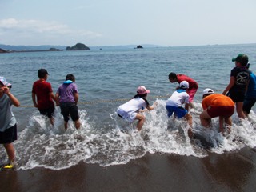
[[[188,76],[186,76],[185,74],[175,74],[175,73],[170,73],[169,74],[169,81],[171,83],[173,82],[178,82],[178,84],[180,84],[182,81],[186,81],[189,83],[189,89],[186,90],[186,93],[190,95],[190,107],[194,107],[192,102],[194,99],[194,95],[196,94],[197,90],[198,90],[198,83],[196,81],[194,81],[193,78],[190,78]]]

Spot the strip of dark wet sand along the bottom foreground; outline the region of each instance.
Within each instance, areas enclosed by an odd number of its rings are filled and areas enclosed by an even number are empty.
[[[255,191],[256,149],[195,158],[146,154],[126,165],[0,172],[0,191]]]

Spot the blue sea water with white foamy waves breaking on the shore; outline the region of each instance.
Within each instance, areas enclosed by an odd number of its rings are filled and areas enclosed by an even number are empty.
[[[209,152],[222,154],[244,146],[256,146],[256,115],[239,121],[233,115],[232,131],[226,137],[218,133],[218,118],[213,127],[200,125],[202,90],[211,88],[222,93],[230,81],[234,67],[231,58],[245,53],[250,70],[256,71],[256,45],[187,46],[123,50],[88,50],[0,54],[1,76],[13,84],[12,93],[21,102],[14,107],[18,120],[18,140],[14,142],[18,169],[37,166],[63,169],[83,161],[101,166],[124,164],[146,153],[193,155],[205,157]],[[40,68],[48,70],[54,93],[74,74],[79,90],[79,114],[82,122],[76,130],[72,122],[64,130],[60,109],[56,107],[55,124],[32,107],[31,89]],[[168,80],[170,72],[186,74],[198,84],[194,98],[193,128],[205,140],[190,141],[186,122],[166,116],[165,102],[178,86]],[[138,86],[151,92],[148,100],[155,110],[145,112],[142,131],[115,114],[125,99],[132,98]],[[7,157],[0,148],[0,162]]]

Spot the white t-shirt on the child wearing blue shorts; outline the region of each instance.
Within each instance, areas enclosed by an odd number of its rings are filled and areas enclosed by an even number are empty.
[[[185,91],[178,92],[177,90],[168,98],[166,106],[182,106],[184,103],[190,103],[190,95]]]

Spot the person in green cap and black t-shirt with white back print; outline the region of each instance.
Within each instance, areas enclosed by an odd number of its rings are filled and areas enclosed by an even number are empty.
[[[242,111],[242,105],[250,80],[250,73],[246,69],[248,57],[246,54],[238,54],[238,57],[233,58],[232,62],[235,62],[235,67],[231,70],[230,83],[226,86],[222,94],[227,95],[235,102],[238,117],[246,118],[246,115]]]

